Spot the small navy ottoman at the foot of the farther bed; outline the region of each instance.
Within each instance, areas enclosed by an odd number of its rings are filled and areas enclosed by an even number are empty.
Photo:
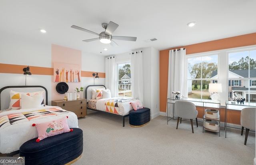
[[[142,127],[150,122],[150,109],[142,108],[129,112],[129,123],[131,127]]]

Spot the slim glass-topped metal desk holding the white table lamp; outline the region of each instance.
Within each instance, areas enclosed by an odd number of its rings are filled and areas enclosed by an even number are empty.
[[[167,99],[167,124],[168,121],[170,121],[171,119],[174,119],[174,104],[176,101],[189,101],[194,103],[196,106],[199,107],[203,107],[203,114],[204,114],[204,110],[206,107],[211,107],[211,108],[216,108],[219,109],[219,113],[220,113],[220,100],[211,100],[211,99],[192,99],[192,98],[183,98],[183,99],[175,99],[175,97],[170,97]],[[172,117],[168,116],[168,104],[173,104],[173,115]],[[204,117],[203,117],[204,120]],[[204,132],[204,127],[203,127],[203,132]],[[209,129],[205,129],[207,131],[213,131],[213,130],[209,130]],[[216,131],[214,131],[216,132]],[[219,136],[220,136],[220,129],[218,130],[219,132]]]

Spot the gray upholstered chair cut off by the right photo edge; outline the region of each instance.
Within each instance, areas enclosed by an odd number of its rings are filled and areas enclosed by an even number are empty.
[[[241,111],[241,120],[240,120],[242,125],[241,135],[243,135],[244,128],[246,128],[244,145],[246,145],[249,130],[255,131],[255,111],[256,111],[255,107],[244,108]]]

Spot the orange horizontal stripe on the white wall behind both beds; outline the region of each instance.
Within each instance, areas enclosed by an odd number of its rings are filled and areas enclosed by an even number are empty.
[[[23,68],[27,66],[23,65],[13,65],[13,64],[0,64],[0,73],[6,74],[23,74]],[[36,75],[50,75],[53,76],[53,68],[29,66],[31,74]],[[81,71],[82,77],[93,77],[92,74],[95,72]],[[98,72],[100,78],[105,78],[105,73]]]

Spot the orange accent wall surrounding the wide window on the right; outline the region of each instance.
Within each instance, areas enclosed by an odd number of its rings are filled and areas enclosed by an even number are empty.
[[[186,48],[186,54],[194,54],[194,53],[209,52],[214,50],[237,48],[237,47],[250,46],[250,45],[256,45],[256,33],[224,38],[224,39],[214,40],[209,42],[202,42],[199,44],[182,46],[182,48]],[[175,48],[171,48],[171,49],[175,49]],[[160,94],[160,111],[161,112],[166,112],[166,103],[167,103],[166,98],[167,98],[167,87],[168,87],[168,61],[169,61],[168,58],[169,58],[169,50],[171,49],[161,50],[159,52],[159,55],[160,55],[159,57],[159,62],[160,62],[159,94]],[[225,111],[225,109],[223,111]],[[238,112],[232,111],[232,121],[230,121],[231,123],[234,123],[234,121],[236,120],[235,118],[238,116],[240,121],[240,111],[239,111],[239,115],[237,113]],[[233,114],[235,118],[233,118]],[[224,116],[222,117],[222,119],[224,119]],[[228,121],[229,120],[231,119],[228,119]]]

